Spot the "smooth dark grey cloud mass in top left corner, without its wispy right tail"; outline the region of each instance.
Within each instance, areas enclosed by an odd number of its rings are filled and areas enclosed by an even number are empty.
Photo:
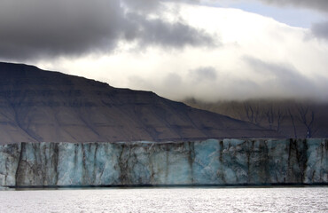
[[[78,53],[116,39],[123,18],[116,1],[6,1],[0,7],[0,56]]]

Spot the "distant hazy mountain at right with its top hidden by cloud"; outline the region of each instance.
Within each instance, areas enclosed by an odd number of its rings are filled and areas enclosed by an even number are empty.
[[[285,138],[327,138],[328,103],[297,99],[249,99],[207,103],[197,99],[184,100],[189,106],[225,114],[252,122],[263,128],[277,130]]]

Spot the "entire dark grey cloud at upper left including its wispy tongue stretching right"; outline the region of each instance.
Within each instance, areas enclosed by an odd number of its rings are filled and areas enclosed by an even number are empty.
[[[160,10],[160,1],[149,0],[2,0],[0,58],[108,52],[121,39],[173,48],[212,42],[210,36],[184,22],[141,15]]]

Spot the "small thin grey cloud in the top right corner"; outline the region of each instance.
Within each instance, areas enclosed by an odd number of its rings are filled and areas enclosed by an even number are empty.
[[[266,4],[275,4],[281,6],[297,6],[308,9],[315,9],[321,12],[328,12],[327,0],[259,0]]]

